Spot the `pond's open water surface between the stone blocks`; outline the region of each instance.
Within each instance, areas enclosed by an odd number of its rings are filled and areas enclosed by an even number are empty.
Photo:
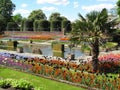
[[[57,52],[54,52],[52,50],[52,46],[51,45],[43,45],[43,44],[40,44],[40,45],[21,44],[21,45],[23,46],[24,52],[27,52],[27,53],[32,53],[34,48],[41,49],[42,55],[45,55],[45,56],[56,56],[56,53],[57,53]],[[78,58],[80,56],[84,56],[85,55],[84,53],[82,53],[80,51],[80,48],[74,48],[74,49],[70,50],[68,47],[65,47],[65,51],[63,53],[60,53],[60,54],[62,54],[61,56],[63,58],[65,58],[65,57],[67,57],[67,55],[69,53],[74,54],[75,58]]]

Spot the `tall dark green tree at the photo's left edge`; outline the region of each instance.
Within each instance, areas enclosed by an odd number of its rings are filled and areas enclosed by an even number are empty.
[[[11,0],[0,0],[0,29],[3,32],[7,23],[12,20],[12,13],[15,10],[15,4]]]

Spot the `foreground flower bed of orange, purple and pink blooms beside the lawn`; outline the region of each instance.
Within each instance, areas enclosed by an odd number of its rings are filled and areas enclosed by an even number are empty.
[[[109,57],[111,56],[111,57]],[[112,67],[118,67],[120,54],[108,54],[99,57],[100,65],[103,65],[106,69],[106,63],[108,69]],[[104,60],[103,60],[104,57]],[[111,60],[113,61],[111,63]],[[11,57],[0,57],[0,64],[10,66],[23,71],[33,72],[38,75],[65,80],[77,84],[83,84],[89,87],[100,88],[103,90],[119,90],[120,78],[118,76],[107,75],[107,71],[101,71],[102,74],[88,73],[91,71],[90,63],[83,63],[77,65],[61,60],[47,60],[46,58],[28,58],[26,60],[16,60]],[[111,66],[110,66],[111,65]],[[100,68],[103,68],[102,66]],[[114,69],[115,70],[115,69]],[[104,74],[105,73],[105,74]]]

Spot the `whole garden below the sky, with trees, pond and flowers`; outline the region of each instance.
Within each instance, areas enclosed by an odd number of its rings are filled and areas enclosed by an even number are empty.
[[[104,8],[74,22],[40,9],[13,16],[3,1],[0,90],[120,90],[120,0],[117,16]]]

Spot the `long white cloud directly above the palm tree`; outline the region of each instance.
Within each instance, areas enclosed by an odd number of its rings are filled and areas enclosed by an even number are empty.
[[[103,8],[111,9],[114,6],[115,5],[113,5],[113,4],[98,4],[98,5],[91,5],[91,6],[82,6],[81,8],[83,10],[86,10],[87,12],[90,12],[90,11],[93,11],[93,10],[100,11]]]

